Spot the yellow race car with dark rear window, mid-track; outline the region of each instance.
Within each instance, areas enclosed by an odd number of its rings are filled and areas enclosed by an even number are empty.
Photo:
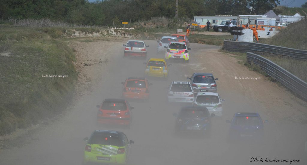
[[[168,77],[168,66],[172,66],[172,64],[168,64],[167,61],[163,58],[150,58],[146,64],[145,75],[152,77]]]

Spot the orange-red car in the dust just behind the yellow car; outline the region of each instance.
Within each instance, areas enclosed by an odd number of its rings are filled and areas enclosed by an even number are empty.
[[[122,82],[124,85],[122,96],[127,99],[148,99],[149,86],[147,78],[129,77]]]

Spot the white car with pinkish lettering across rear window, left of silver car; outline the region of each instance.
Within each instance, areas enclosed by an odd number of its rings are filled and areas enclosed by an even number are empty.
[[[173,81],[167,91],[169,102],[193,103],[194,93],[190,82]]]

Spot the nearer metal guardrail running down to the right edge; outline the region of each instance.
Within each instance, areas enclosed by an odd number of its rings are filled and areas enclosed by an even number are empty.
[[[247,61],[251,64],[254,63],[261,67],[261,70],[278,82],[282,83],[288,89],[300,96],[302,99],[307,100],[307,82],[296,77],[288,70],[285,70],[281,66],[274,62],[251,52],[246,52]]]

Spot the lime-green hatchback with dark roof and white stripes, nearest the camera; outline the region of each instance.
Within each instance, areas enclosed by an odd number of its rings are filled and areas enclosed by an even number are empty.
[[[87,141],[83,164],[87,163],[117,163],[124,164],[130,155],[130,145],[126,135],[119,131],[96,130]]]

